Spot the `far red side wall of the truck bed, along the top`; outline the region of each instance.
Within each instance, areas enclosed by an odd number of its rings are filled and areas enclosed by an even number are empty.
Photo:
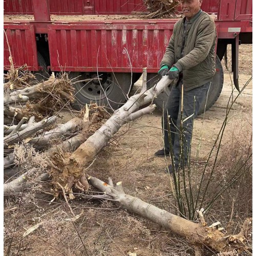
[[[226,5],[226,0],[205,0],[202,10],[208,13],[218,13],[220,2]],[[232,5],[234,5],[233,1]],[[252,0],[237,0],[243,7],[252,6]],[[50,12],[52,14],[129,14],[143,11],[143,0],[50,0]],[[250,12],[250,9],[248,10]],[[248,13],[246,12],[246,14]],[[5,14],[33,14],[32,0],[5,0]]]

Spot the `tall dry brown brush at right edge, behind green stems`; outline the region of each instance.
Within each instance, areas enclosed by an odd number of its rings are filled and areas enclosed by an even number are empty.
[[[229,141],[221,147],[220,157],[217,160],[217,172],[212,176],[208,197],[217,193],[228,181],[230,187],[215,203],[218,211],[227,212],[230,215],[233,207],[233,218],[238,221],[252,216],[252,125],[249,119],[234,119],[231,122],[232,129],[227,132]],[[209,166],[211,168],[211,166]],[[241,177],[236,181],[238,176]],[[214,207],[216,209],[216,207]],[[211,212],[212,214],[212,212]],[[229,219],[226,219],[227,223]],[[233,229],[234,231],[234,229]]]

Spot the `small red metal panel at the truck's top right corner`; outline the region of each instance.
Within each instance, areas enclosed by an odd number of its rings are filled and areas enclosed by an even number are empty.
[[[252,0],[237,0],[235,19],[252,19]]]

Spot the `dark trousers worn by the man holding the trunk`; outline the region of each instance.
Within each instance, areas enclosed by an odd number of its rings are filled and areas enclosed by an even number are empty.
[[[181,166],[187,164],[187,158],[190,153],[190,143],[193,132],[193,121],[197,116],[201,103],[207,96],[210,82],[205,83],[203,86],[192,89],[190,91],[183,90],[183,113],[182,120],[191,116],[185,120],[183,126],[183,152],[184,156],[180,158],[180,135],[181,135],[181,88],[183,81],[179,81],[176,87],[173,87],[170,91],[170,95],[164,107],[164,113],[162,118],[162,128],[164,133],[164,148],[170,152],[170,140],[168,136],[168,121],[170,135],[172,138],[172,148],[174,155],[174,162],[176,165]],[[168,117],[169,116],[169,117]]]

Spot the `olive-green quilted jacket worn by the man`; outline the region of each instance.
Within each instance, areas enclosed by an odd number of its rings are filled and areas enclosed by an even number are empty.
[[[189,22],[185,37],[184,56],[181,58],[181,45],[184,18],[174,25],[160,66],[175,66],[183,73],[184,90],[189,91],[212,80],[216,72],[215,45],[217,32],[214,19],[200,10]],[[176,79],[177,83],[177,79]]]

